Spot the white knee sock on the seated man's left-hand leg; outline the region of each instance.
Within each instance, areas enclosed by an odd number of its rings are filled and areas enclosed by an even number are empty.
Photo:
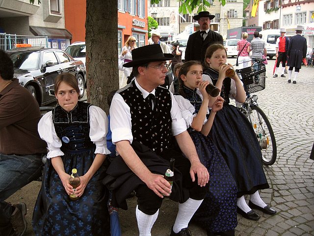
[[[140,211],[138,209],[138,206],[136,206],[136,219],[139,236],[152,236],[151,231],[157,219],[158,213],[159,209],[154,215],[147,215],[144,212]]]

